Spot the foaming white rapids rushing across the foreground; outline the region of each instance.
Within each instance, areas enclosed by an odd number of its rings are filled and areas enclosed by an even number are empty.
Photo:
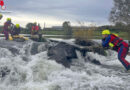
[[[47,51],[25,53],[31,44],[16,47],[20,50],[18,55],[0,48],[0,68],[10,69],[6,76],[0,76],[0,90],[130,90],[130,73],[118,61],[116,52],[108,51],[107,57],[87,53],[102,66],[85,62],[77,52],[78,59],[73,59],[69,69],[49,60]],[[126,59],[130,61],[129,56]]]

